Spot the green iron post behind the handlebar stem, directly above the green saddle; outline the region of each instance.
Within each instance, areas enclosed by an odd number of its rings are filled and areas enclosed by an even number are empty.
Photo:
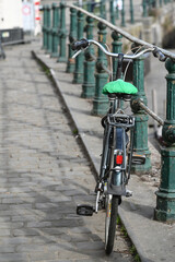
[[[112,38],[113,38],[113,52],[119,53],[121,52],[122,49],[122,43],[121,38],[122,36],[119,35],[116,31],[112,33]],[[117,58],[113,58],[113,80],[116,80],[116,72],[117,72],[117,64],[118,60]]]

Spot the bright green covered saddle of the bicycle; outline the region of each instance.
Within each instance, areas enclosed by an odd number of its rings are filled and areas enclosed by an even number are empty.
[[[129,94],[133,95],[138,92],[135,85],[125,82],[124,80],[112,81],[103,87],[103,94],[108,93],[120,93],[120,94]]]

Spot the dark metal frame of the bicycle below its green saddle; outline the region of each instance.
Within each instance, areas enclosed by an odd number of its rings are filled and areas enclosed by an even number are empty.
[[[117,122],[117,119],[125,122]],[[135,128],[135,118],[124,114],[121,109],[121,99],[117,97],[109,97],[109,110],[105,116],[105,129],[104,129],[104,141],[103,141],[103,154],[100,169],[100,182],[97,186],[97,195],[96,195],[96,207],[95,212],[98,211],[98,203],[101,201],[101,194],[115,194],[115,195],[126,195],[126,184],[130,178],[130,167],[131,167],[131,157],[133,148],[133,128]],[[122,144],[122,158],[124,163],[121,166],[113,167],[113,157],[116,151],[114,145],[116,131],[120,129]],[[130,130],[130,152],[128,163],[126,160],[127,156],[127,141],[126,141],[126,130]],[[120,148],[121,150],[121,148]],[[108,165],[107,165],[108,163]],[[110,177],[113,172],[116,174],[116,183],[109,184]]]

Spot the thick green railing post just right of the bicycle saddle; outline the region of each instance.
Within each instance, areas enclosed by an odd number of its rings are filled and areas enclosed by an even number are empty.
[[[137,174],[145,174],[151,169],[150,151],[148,147],[149,117],[137,104],[138,98],[140,98],[144,105],[148,104],[144,93],[144,59],[142,57],[133,61],[133,85],[138,88],[137,95],[135,95],[131,99],[131,108],[136,119],[133,132],[133,152],[138,155],[145,155],[145,164],[135,164],[132,165],[131,169]]]

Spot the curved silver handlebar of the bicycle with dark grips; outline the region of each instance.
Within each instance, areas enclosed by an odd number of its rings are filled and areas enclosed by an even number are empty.
[[[73,55],[72,58],[75,58],[77,56],[79,56],[79,53],[83,49],[88,48],[92,44],[97,46],[108,57],[118,58],[118,56],[119,56],[119,53],[109,52],[108,50],[106,50],[106,48],[104,46],[102,46],[96,40],[83,38],[83,39],[72,44],[72,50],[77,50],[77,52]],[[136,55],[124,55],[124,59],[132,59],[133,60],[133,59],[137,59],[137,58],[141,57],[143,53],[147,53],[147,52],[153,52],[153,55],[155,57],[158,57],[160,61],[165,61],[165,59],[166,59],[166,57],[162,53],[162,51],[158,47],[147,48],[147,49],[141,50],[140,52],[138,52]]]

